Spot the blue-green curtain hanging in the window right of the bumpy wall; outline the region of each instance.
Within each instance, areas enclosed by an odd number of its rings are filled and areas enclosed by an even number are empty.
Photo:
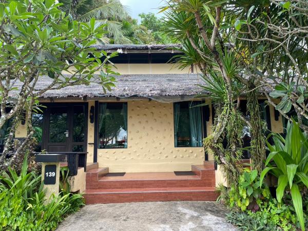
[[[202,107],[198,104],[199,102],[192,102],[189,107],[191,147],[202,146]]]

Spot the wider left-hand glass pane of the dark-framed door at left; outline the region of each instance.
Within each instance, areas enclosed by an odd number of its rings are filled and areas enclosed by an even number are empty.
[[[67,131],[67,108],[51,108],[49,119],[49,142],[65,143]]]

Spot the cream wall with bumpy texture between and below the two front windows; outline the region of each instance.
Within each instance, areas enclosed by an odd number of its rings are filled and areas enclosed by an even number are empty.
[[[98,149],[100,167],[110,172],[191,170],[203,164],[204,148],[176,148],[172,103],[128,101],[127,148]]]

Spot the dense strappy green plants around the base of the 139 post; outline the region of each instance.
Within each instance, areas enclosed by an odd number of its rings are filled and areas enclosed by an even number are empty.
[[[82,196],[61,192],[46,202],[41,176],[27,174],[27,157],[18,176],[13,169],[0,182],[1,230],[54,230],[68,214],[83,205]]]

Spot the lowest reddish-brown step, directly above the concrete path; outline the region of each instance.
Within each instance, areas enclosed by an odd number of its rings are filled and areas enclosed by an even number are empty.
[[[215,187],[99,189],[85,192],[86,204],[145,201],[215,201]]]

